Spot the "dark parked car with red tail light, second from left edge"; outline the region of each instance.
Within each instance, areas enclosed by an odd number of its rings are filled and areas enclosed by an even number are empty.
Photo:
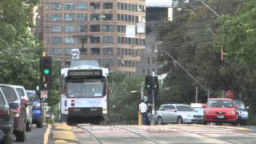
[[[25,142],[26,140],[26,103],[22,102],[22,98],[18,96],[14,88],[9,85],[0,84],[3,94],[5,94],[7,102],[18,103],[18,107],[14,113],[14,135],[16,141]]]

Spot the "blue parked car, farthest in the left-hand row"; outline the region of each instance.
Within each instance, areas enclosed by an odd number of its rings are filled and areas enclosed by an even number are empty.
[[[32,104],[32,122],[38,128],[42,127],[42,105],[35,90],[26,90],[26,94]]]

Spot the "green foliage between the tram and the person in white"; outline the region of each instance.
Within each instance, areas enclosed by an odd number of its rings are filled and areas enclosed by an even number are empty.
[[[129,78],[122,73],[110,74],[112,79],[110,85],[110,122],[137,121],[138,105],[140,103],[140,87],[144,76]],[[131,94],[130,91],[137,90],[138,93]]]

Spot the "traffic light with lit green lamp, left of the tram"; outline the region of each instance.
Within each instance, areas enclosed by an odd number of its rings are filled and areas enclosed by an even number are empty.
[[[41,57],[40,58],[40,85],[41,90],[49,90],[51,85],[51,57]]]

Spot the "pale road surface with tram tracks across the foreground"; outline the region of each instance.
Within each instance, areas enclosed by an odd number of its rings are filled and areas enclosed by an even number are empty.
[[[250,128],[251,129],[251,128]],[[80,143],[256,143],[256,132],[242,126],[73,126]]]

